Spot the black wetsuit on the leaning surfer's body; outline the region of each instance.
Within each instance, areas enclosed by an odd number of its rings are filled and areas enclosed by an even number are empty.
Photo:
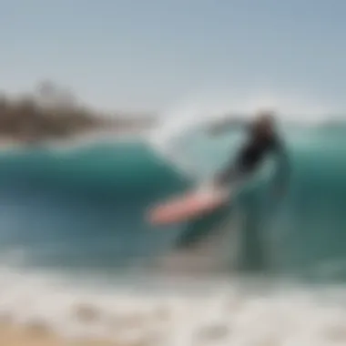
[[[252,173],[270,152],[283,152],[283,146],[276,135],[260,136],[251,132],[249,142],[240,149],[236,162],[229,163],[217,177],[219,184],[227,184],[235,178]]]

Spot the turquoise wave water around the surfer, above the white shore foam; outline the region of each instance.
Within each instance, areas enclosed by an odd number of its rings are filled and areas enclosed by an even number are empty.
[[[218,139],[196,133],[172,145],[168,158],[139,140],[4,150],[0,247],[4,253],[20,249],[29,267],[127,270],[149,265],[181,241],[202,239],[237,209],[243,219],[239,271],[343,279],[344,134],[340,127],[287,129],[287,196],[273,197],[263,173],[227,209],[163,229],[146,222],[148,207],[222,167],[239,148],[239,133]]]

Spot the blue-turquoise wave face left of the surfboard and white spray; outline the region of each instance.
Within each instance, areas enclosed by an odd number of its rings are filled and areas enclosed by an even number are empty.
[[[1,247],[39,266],[102,270],[153,256],[169,233],[150,229],[145,211],[188,184],[141,143],[7,151],[0,165]]]

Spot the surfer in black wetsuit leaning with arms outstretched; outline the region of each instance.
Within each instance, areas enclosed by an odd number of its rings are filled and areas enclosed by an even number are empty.
[[[211,132],[214,135],[219,135],[219,133],[226,131],[229,126],[234,127],[239,123],[243,126],[244,121],[223,122],[218,127],[213,127]],[[281,173],[284,174],[280,174],[279,189],[277,189],[282,194],[285,185],[287,185],[290,166],[283,141],[274,126],[274,115],[270,112],[260,112],[252,123],[247,124],[247,127],[249,128],[248,141],[240,148],[235,163],[229,162],[226,168],[216,175],[215,184],[220,187],[228,186],[230,183],[249,178],[259,168],[266,156],[274,152],[279,155],[279,158],[282,159],[280,162],[284,164],[281,166],[283,168]],[[282,179],[282,177],[285,178]]]

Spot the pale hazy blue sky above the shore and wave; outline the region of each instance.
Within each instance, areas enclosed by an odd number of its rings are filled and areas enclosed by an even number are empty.
[[[345,17],[344,0],[0,0],[0,89],[51,79],[105,109],[346,109]]]

